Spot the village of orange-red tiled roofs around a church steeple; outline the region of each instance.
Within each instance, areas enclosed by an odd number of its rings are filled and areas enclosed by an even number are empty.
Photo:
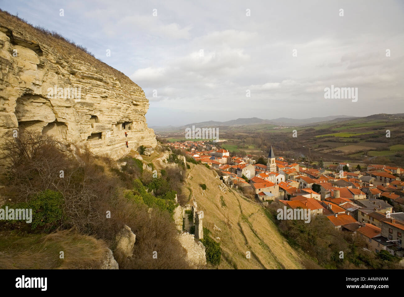
[[[232,156],[209,141],[168,145],[215,170],[228,187],[252,193],[263,206],[277,203],[325,216],[335,229],[360,234],[368,251],[404,256],[404,169],[400,167],[369,164],[358,170],[341,162],[312,169],[286,162],[272,146],[267,163],[259,164],[258,156]]]

